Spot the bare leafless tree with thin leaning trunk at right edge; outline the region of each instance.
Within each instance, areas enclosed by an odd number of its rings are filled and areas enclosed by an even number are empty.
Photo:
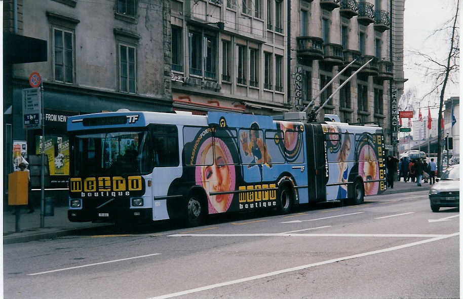
[[[441,130],[441,122],[442,122],[442,107],[444,105],[444,95],[445,95],[445,88],[447,83],[450,81],[451,83],[458,83],[458,72],[459,72],[459,27],[458,27],[458,9],[459,9],[459,0],[456,2],[456,10],[455,15],[452,19],[447,21],[443,27],[436,29],[431,35],[436,35],[438,33],[445,33],[447,36],[450,36],[450,40],[445,40],[444,42],[450,42],[450,49],[448,55],[446,57],[446,61],[439,61],[437,58],[421,53],[419,51],[410,51],[412,54],[415,54],[422,58],[425,63],[416,62],[415,65],[421,68],[425,68],[426,76],[430,78],[434,78],[435,85],[434,87],[423,96],[421,100],[425,97],[438,93],[440,98],[439,103],[439,117],[438,117],[438,152],[437,152],[437,160],[438,160],[438,173],[439,175],[442,173],[442,147],[441,147],[441,139],[443,130]]]

